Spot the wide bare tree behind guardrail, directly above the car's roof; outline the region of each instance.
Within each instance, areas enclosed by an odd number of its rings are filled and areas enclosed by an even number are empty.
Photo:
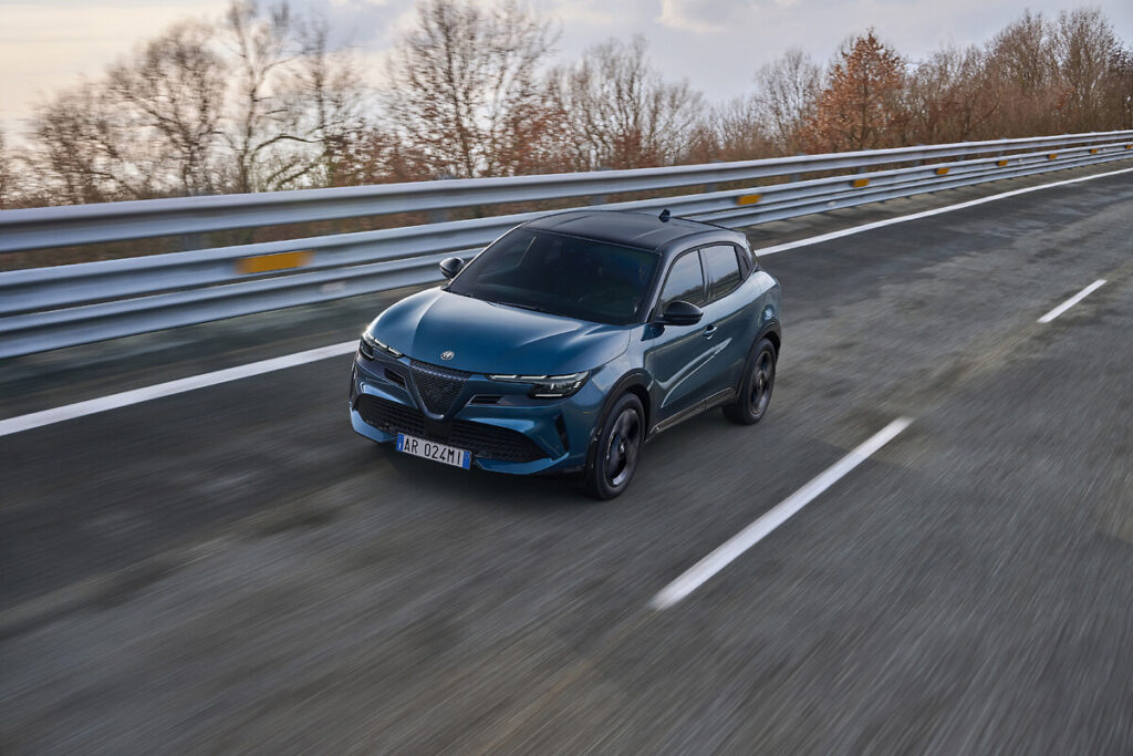
[[[646,42],[610,40],[561,69],[566,144],[578,169],[664,165],[688,150],[702,96],[687,80],[666,82],[646,57]]]

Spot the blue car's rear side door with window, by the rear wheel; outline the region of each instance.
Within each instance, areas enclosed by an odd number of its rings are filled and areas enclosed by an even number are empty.
[[[749,312],[741,292],[743,269],[738,250],[731,244],[700,248],[708,300],[702,306],[705,340],[712,346],[706,380],[706,398],[719,398],[739,385],[743,363],[751,348],[751,328],[756,313]]]

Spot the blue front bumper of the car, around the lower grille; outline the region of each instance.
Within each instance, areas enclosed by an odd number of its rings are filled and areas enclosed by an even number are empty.
[[[560,473],[586,465],[605,398],[594,381],[572,397],[547,400],[528,398],[529,387],[472,374],[452,402],[459,409],[438,416],[425,410],[410,363],[355,355],[350,424],[356,432],[383,443],[406,433],[470,449],[472,465],[495,473]]]

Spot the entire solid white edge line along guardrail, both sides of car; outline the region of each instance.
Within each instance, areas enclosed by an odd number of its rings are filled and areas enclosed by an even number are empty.
[[[862,231],[869,231],[871,229],[881,228],[884,226],[893,226],[894,223],[904,223],[905,221],[913,221],[919,218],[929,218],[930,215],[939,215],[940,213],[952,212],[953,210],[963,210],[964,207],[980,205],[983,204],[985,202],[993,202],[994,199],[1014,197],[1020,194],[1026,194],[1028,192],[1038,192],[1039,189],[1049,189],[1056,186],[1077,184],[1079,181],[1089,181],[1096,178],[1105,178],[1106,176],[1117,176],[1118,173],[1128,173],[1130,171],[1133,171],[1133,168],[1125,168],[1118,171],[1108,171],[1106,173],[1098,173],[1096,176],[1082,176],[1080,178],[1066,179],[1065,181],[1055,181],[1054,184],[1043,184],[1042,186],[1031,186],[1026,187],[1025,189],[1014,189],[1012,192],[1005,192],[1003,194],[995,194],[989,197],[981,197],[979,199],[962,202],[957,205],[948,205],[947,207],[937,207],[936,210],[926,210],[923,212],[913,213],[912,215],[902,215],[901,218],[889,218],[887,220],[874,221],[872,223],[866,223],[864,226],[855,226],[854,228],[843,229],[841,231],[832,231],[829,233],[823,233],[820,236],[813,236],[807,239],[798,239],[795,241],[778,244],[773,247],[764,247],[761,249],[756,249],[755,253],[757,255],[774,255],[780,252],[786,252],[787,249],[796,249],[799,247],[806,247],[811,244],[821,244],[823,241],[829,241],[830,239],[837,239],[844,236],[851,236],[853,233],[861,233]],[[56,407],[54,409],[44,409],[43,411],[32,413],[29,415],[10,417],[8,419],[0,421],[0,436],[10,435],[12,433],[19,433],[20,431],[29,431],[32,428],[42,427],[44,425],[51,425],[53,423],[61,423],[63,421],[69,421],[76,417],[83,417],[85,415],[104,413],[109,409],[118,409],[119,407],[136,405],[140,401],[148,401],[151,399],[157,399],[160,397],[168,397],[172,393],[193,391],[194,389],[204,389],[210,385],[216,385],[218,383],[227,383],[228,381],[236,381],[252,375],[259,375],[262,373],[269,373],[271,371],[280,369],[281,367],[292,367],[295,365],[304,365],[306,363],[312,363],[317,359],[325,359],[326,357],[334,357],[337,355],[342,355],[347,354],[348,351],[352,351],[356,347],[356,343],[357,342],[355,341],[349,341],[343,343],[331,345],[329,347],[321,347],[318,349],[309,349],[307,351],[299,351],[293,355],[284,355],[283,357],[275,357],[274,359],[265,359],[263,362],[250,363],[248,365],[239,365],[237,367],[230,367],[228,369],[216,371],[214,373],[193,375],[186,379],[180,379],[178,381],[159,383],[156,385],[135,389],[134,391],[123,391],[121,393],[114,393],[109,397],[102,397],[100,399],[91,399],[90,401],[80,401],[74,405],[67,405],[65,407]]]

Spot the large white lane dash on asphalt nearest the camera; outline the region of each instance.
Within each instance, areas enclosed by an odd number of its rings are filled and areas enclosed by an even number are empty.
[[[911,417],[898,417],[860,443],[849,455],[826,468],[826,470],[810,481],[810,483],[781,501],[766,515],[725,541],[714,552],[665,586],[661,593],[654,596],[650,606],[656,610],[668,609],[699,588],[716,572],[719,572],[740,554],[763,541],[772,530],[783,525],[783,523],[834,485],[840,478],[850,473],[850,470],[869,459],[878,449],[909,427],[909,424],[912,422]]]

